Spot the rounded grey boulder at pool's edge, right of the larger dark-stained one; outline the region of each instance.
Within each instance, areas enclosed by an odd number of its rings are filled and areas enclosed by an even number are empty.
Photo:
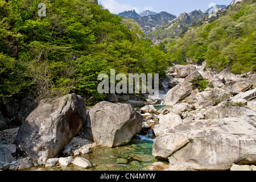
[[[117,147],[130,142],[142,130],[142,116],[129,104],[102,101],[89,111],[84,137],[99,146]]]

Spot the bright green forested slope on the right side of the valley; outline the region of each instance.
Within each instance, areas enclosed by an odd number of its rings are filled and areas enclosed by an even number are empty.
[[[245,0],[229,6],[211,23],[198,22],[176,38],[166,38],[160,47],[177,64],[202,63],[216,71],[232,68],[233,73],[256,71],[256,3]]]

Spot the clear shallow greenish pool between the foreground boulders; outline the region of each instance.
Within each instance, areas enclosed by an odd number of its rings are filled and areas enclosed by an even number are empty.
[[[152,136],[137,135],[125,146],[109,148],[95,148],[91,154],[82,155],[97,166],[92,170],[96,171],[143,171],[151,163],[158,160],[152,155]]]

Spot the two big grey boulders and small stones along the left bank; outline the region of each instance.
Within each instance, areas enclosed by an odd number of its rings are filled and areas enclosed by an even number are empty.
[[[129,143],[141,129],[142,116],[129,104],[104,101],[88,112],[84,100],[76,94],[45,99],[22,126],[9,133],[1,131],[1,138],[9,145],[0,145],[0,169],[23,170],[41,165],[90,168],[93,164],[80,154],[88,154],[96,146]]]

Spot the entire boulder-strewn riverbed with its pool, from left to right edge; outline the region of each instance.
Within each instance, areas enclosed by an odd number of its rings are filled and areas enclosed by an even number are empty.
[[[255,73],[214,73],[203,63],[175,65],[167,76],[143,107],[130,96],[91,109],[75,94],[40,101],[22,126],[0,131],[0,168],[255,170]],[[200,76],[203,90],[192,82]],[[132,146],[138,134],[154,136],[150,154],[140,153],[143,142]],[[111,152],[109,162],[97,157]]]

